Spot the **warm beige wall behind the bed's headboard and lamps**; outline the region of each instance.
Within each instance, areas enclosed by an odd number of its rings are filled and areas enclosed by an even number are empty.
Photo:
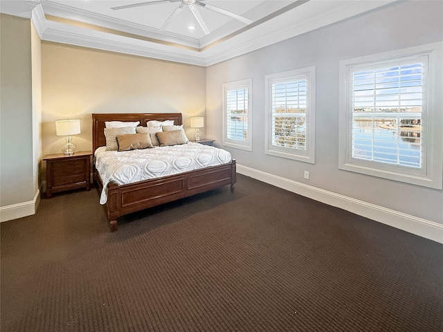
[[[81,151],[92,149],[91,113],[181,112],[192,138],[189,118],[205,109],[204,67],[42,42],[43,154],[61,152],[55,120],[81,120]]]

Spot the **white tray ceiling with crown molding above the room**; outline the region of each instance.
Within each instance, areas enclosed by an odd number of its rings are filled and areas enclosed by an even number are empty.
[[[0,11],[32,19],[43,40],[208,66],[394,1],[1,0]]]

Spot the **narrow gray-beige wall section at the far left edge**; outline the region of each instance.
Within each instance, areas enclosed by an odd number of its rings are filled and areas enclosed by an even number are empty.
[[[0,15],[0,206],[33,201],[33,91],[29,19]]]

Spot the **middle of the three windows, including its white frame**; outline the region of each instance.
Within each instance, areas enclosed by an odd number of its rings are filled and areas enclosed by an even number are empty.
[[[315,68],[266,75],[266,154],[314,163]]]

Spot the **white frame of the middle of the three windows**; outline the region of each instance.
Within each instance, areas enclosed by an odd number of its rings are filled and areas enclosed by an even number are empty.
[[[298,160],[305,163],[315,163],[315,78],[316,67],[298,68],[265,76],[265,154],[282,158]],[[273,84],[278,82],[295,82],[305,79],[307,81],[306,95],[306,149],[293,149],[273,145]]]

